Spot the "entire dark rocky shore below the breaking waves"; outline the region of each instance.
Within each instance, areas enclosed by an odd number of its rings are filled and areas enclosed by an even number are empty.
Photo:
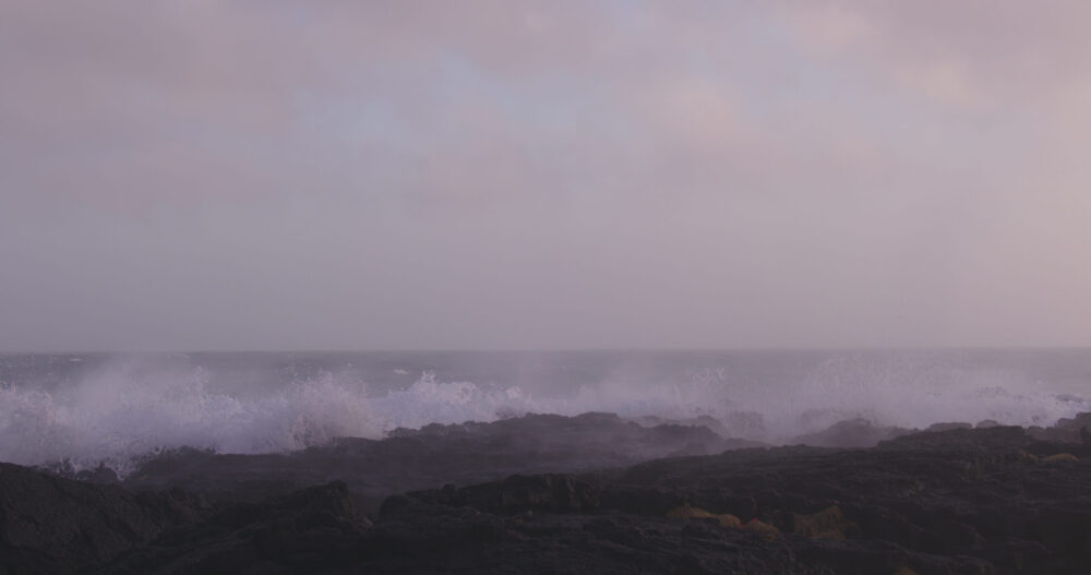
[[[173,452],[124,481],[0,464],[0,574],[1088,573],[1089,422],[768,447],[527,416]]]

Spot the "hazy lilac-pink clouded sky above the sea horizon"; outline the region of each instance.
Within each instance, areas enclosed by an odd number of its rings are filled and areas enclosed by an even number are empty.
[[[0,0],[0,351],[1089,346],[1089,25]]]

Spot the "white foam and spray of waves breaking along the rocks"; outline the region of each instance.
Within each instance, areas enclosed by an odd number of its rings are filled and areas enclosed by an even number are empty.
[[[106,463],[124,471],[134,457],[192,446],[221,453],[269,453],[334,436],[377,439],[398,427],[491,421],[529,412],[684,420],[708,416],[735,436],[770,442],[863,417],[924,428],[939,421],[995,419],[1047,426],[1091,410],[1086,398],[1055,393],[1003,371],[876,364],[835,359],[799,381],[726,381],[703,370],[683,383],[606,378],[563,395],[517,386],[439,381],[369,393],[364,382],[323,374],[266,394],[212,390],[201,369],[149,369],[121,362],[75,385],[45,392],[0,386],[0,460],[74,467]]]

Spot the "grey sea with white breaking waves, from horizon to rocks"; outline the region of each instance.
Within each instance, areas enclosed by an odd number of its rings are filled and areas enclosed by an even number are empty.
[[[715,418],[776,443],[844,419],[1048,426],[1091,410],[1091,349],[0,355],[0,460],[285,452],[528,412]],[[643,419],[640,419],[643,418]]]

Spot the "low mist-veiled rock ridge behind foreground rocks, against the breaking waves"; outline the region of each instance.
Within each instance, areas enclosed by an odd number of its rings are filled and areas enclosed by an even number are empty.
[[[391,494],[449,482],[586,471],[754,445],[758,444],[726,440],[706,427],[642,427],[612,414],[529,415],[491,423],[398,429],[382,441],[341,438],[290,454],[177,450],[145,462],[124,484],[181,488],[217,500],[255,503],[307,486],[345,481],[358,505],[374,511]]]

